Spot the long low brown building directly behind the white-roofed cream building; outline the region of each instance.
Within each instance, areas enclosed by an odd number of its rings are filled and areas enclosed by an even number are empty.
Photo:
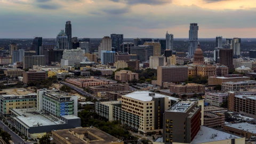
[[[89,93],[98,94],[98,92],[106,92],[106,91],[129,91],[128,84],[107,84],[107,85],[99,85],[99,86],[90,86]]]

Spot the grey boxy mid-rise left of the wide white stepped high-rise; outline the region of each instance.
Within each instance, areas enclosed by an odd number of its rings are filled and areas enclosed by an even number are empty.
[[[23,57],[23,68],[33,68],[33,65],[45,65],[44,55],[33,55]]]

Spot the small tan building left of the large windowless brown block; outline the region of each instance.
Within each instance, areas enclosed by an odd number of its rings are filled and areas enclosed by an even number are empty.
[[[139,80],[139,74],[132,73],[132,71],[130,70],[120,70],[120,71],[116,71],[115,73],[115,80],[117,81],[128,82],[128,81],[132,81],[133,79]]]

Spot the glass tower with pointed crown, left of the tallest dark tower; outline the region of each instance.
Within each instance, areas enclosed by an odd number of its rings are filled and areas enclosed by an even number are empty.
[[[68,36],[64,32],[64,30],[60,30],[60,33],[57,35],[56,49],[69,50],[68,46],[69,46]]]

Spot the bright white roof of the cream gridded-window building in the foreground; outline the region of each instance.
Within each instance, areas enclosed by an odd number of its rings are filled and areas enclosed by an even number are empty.
[[[124,96],[132,98],[132,99],[137,99],[137,100],[140,100],[140,101],[151,101],[153,99],[153,97],[149,95],[150,93],[155,94],[153,96],[154,98],[165,98],[165,97],[167,97],[167,98],[169,98],[169,100],[175,100],[175,101],[180,100],[178,98],[170,97],[170,96],[159,94],[159,93],[149,92],[149,91],[135,91],[135,92],[132,92],[132,93],[129,93],[129,94],[125,94]]]

